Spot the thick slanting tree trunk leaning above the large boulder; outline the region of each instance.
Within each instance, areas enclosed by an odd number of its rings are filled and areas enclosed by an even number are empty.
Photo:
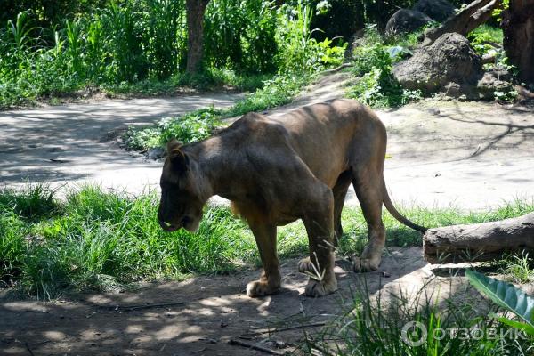
[[[464,10],[454,16],[450,16],[439,28],[432,28],[426,31],[423,45],[433,44],[441,35],[449,32],[457,32],[462,36],[466,36],[474,28],[478,28],[482,23],[490,20],[491,13],[500,4],[501,0],[473,1]]]

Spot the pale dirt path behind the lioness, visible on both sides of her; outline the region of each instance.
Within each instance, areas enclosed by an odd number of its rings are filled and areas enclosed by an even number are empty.
[[[320,78],[290,109],[344,94],[344,73]],[[237,94],[103,101],[0,113],[0,185],[97,182],[140,193],[158,189],[161,163],[120,150],[126,125],[146,125],[215,105]],[[388,128],[385,177],[398,205],[495,207],[534,197],[534,107],[485,102],[422,101],[378,110]],[[353,190],[347,204],[357,205]]]

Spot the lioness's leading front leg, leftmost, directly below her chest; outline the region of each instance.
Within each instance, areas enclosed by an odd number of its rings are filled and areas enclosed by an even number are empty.
[[[279,259],[276,254],[276,226],[250,222],[249,225],[260,251],[263,271],[260,279],[248,283],[247,295],[250,297],[271,295],[277,292],[281,285]]]

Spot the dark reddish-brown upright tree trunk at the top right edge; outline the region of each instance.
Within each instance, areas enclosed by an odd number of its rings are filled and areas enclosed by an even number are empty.
[[[534,85],[534,0],[510,0],[503,29],[506,56],[522,82]]]

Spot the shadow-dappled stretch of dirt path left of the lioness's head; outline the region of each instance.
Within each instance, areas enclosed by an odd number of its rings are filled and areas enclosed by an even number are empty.
[[[0,186],[98,182],[136,193],[150,189],[160,164],[121,150],[117,133],[209,105],[229,107],[241,97],[203,93],[0,112]]]

